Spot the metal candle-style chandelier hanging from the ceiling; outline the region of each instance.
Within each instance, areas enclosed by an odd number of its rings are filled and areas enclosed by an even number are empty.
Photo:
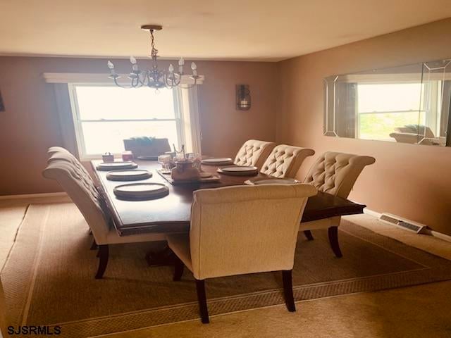
[[[169,65],[168,70],[160,70],[158,68],[157,58],[158,49],[155,48],[154,42],[154,31],[163,29],[160,25],[143,25],[141,26],[142,30],[149,30],[150,39],[151,39],[151,47],[150,50],[150,58],[152,58],[152,68],[147,70],[140,70],[137,65],[136,58],[130,56],[130,63],[132,64],[132,71],[128,75],[130,79],[129,85],[123,85],[118,83],[118,79],[121,77],[116,73],[114,69],[114,65],[111,61],[108,61],[108,68],[110,70],[109,78],[113,79],[113,82],[118,87],[122,88],[140,88],[140,87],[149,87],[149,88],[168,88],[172,89],[175,87],[181,88],[191,88],[197,84],[197,80],[199,79],[199,75],[197,75],[197,66],[194,62],[191,63],[192,75],[190,75],[190,79],[193,80],[192,84],[182,85],[182,77],[185,75],[183,73],[183,67],[185,65],[185,60],[180,58],[178,61],[178,70],[175,70],[172,63]]]

